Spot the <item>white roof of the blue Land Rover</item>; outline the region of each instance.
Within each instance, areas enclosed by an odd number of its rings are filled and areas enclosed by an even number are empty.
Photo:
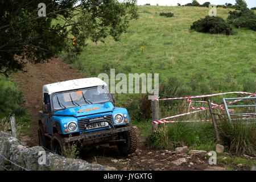
[[[44,85],[43,94],[44,93],[52,94],[54,92],[63,92],[66,90],[81,89],[81,88],[88,88],[92,86],[102,86],[102,85],[108,86],[106,82],[102,81],[100,78],[97,78],[97,77],[80,78],[76,80],[61,81],[53,84]]]

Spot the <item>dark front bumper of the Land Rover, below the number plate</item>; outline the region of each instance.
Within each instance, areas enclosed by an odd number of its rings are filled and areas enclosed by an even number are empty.
[[[64,137],[63,140],[65,143],[73,142],[77,140],[83,140],[84,142],[93,141],[93,143],[97,143],[100,140],[104,140],[106,138],[112,137],[117,133],[120,133],[123,131],[129,131],[129,130],[131,130],[131,126],[119,127],[117,129],[112,128],[109,130],[91,131],[88,133],[82,133],[76,137]]]

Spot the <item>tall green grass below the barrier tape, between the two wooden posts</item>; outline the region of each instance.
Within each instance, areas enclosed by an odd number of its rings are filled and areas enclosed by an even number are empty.
[[[162,124],[155,133],[148,133],[147,144],[160,149],[188,146],[193,150],[215,150],[217,144],[212,123]]]

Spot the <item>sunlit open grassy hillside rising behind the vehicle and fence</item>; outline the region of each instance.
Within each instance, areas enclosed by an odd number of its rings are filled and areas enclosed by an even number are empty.
[[[172,12],[174,17],[159,16]],[[139,18],[119,42],[92,43],[79,56],[76,68],[87,77],[108,73],[160,73],[162,83],[176,77],[191,94],[255,91],[256,34],[235,28],[236,35],[212,35],[190,31],[197,19],[208,15],[206,7],[139,6]],[[226,19],[230,9],[217,9]],[[141,51],[141,47],[144,51]]]

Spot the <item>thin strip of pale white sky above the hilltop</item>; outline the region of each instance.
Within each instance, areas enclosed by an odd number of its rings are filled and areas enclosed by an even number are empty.
[[[180,5],[185,5],[192,0],[137,0],[137,5],[145,5],[146,3],[150,3],[150,5],[158,5],[160,6],[177,6],[177,3]],[[210,2],[212,5],[225,5],[225,3],[232,3],[234,5],[236,0],[197,0],[197,2],[203,4],[204,2]],[[247,3],[247,7],[256,7],[256,0],[245,0]]]

